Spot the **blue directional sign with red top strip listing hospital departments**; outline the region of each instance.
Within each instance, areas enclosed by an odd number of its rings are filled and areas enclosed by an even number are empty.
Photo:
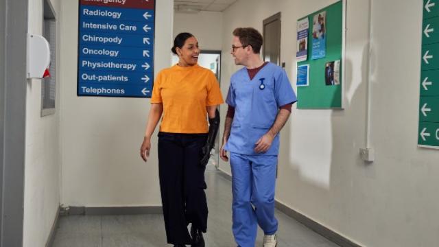
[[[155,0],[80,0],[78,96],[151,97]]]

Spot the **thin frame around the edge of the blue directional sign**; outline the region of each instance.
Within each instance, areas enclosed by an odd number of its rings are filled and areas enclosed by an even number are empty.
[[[80,27],[80,20],[81,20],[81,0],[78,0],[78,46],[77,46],[77,51],[78,51],[78,55],[77,55],[77,63],[76,63],[76,96],[77,97],[117,97],[117,98],[146,98],[146,99],[150,99],[152,97],[152,89],[154,89],[154,79],[155,79],[155,56],[156,56],[156,1],[158,0],[154,0],[153,5],[154,5],[154,32],[152,33],[152,66],[151,68],[151,75],[152,77],[150,78],[150,82],[151,82],[151,93],[145,95],[145,96],[137,96],[137,95],[86,95],[86,94],[81,94],[80,93],[80,36],[81,36],[81,27]],[[110,7],[114,7],[114,6],[110,6]]]

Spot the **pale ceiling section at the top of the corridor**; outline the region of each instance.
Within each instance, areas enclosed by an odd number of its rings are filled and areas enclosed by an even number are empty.
[[[237,0],[174,0],[174,9],[177,12],[222,12],[235,1]]]

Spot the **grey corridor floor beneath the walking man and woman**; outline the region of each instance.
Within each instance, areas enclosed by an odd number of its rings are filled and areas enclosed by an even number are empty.
[[[231,185],[219,175],[215,167],[206,171],[209,202],[208,231],[204,235],[207,247],[233,247],[231,231]],[[278,247],[337,246],[276,211],[279,222]],[[257,246],[262,246],[263,233],[259,230]],[[134,247],[169,246],[166,244],[163,215],[74,215],[60,217],[54,247]]]

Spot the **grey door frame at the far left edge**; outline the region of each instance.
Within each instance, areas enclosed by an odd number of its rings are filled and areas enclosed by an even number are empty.
[[[23,246],[28,3],[0,1],[7,6],[0,10],[3,11],[0,16],[4,16],[5,21],[1,33],[4,45],[0,47],[5,55],[2,61],[4,76],[0,80],[0,88],[3,88],[0,95],[0,106],[3,109],[0,112],[3,119],[0,129],[0,145],[3,150],[0,152],[0,246]]]

